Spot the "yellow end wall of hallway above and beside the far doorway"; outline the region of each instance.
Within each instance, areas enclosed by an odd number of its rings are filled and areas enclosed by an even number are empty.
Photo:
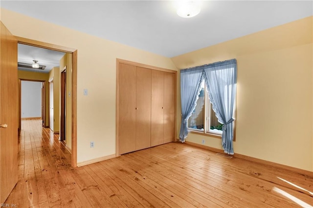
[[[39,72],[27,72],[18,70],[19,79],[40,80],[45,81],[45,126],[49,125],[49,75]]]

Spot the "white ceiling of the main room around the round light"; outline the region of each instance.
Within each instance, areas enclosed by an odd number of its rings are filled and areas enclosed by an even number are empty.
[[[201,1],[198,16],[176,14],[177,1],[1,0],[1,7],[165,57],[313,15],[313,1]]]

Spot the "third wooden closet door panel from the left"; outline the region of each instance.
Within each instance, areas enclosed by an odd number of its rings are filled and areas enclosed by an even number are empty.
[[[151,147],[163,144],[164,72],[151,71]]]

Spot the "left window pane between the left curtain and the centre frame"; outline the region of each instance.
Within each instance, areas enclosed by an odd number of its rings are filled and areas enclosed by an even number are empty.
[[[204,81],[201,83],[201,91],[197,105],[188,119],[188,128],[202,131],[204,129]]]

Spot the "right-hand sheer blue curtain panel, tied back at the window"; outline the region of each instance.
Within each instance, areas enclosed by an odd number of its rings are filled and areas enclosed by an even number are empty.
[[[204,69],[210,102],[219,122],[223,125],[222,146],[227,154],[233,150],[233,111],[236,96],[236,59],[208,64]]]

